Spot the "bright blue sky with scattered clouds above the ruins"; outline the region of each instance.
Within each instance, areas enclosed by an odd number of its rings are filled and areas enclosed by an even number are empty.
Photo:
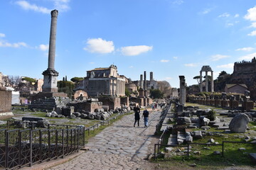
[[[256,56],[255,0],[0,1],[0,72],[42,79],[48,67],[50,11],[57,9],[58,79],[117,65],[119,74],[179,86],[197,84],[203,65],[214,79]]]

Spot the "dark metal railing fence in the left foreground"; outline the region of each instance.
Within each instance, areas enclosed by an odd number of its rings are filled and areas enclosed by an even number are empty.
[[[16,169],[65,157],[85,146],[85,128],[48,124],[47,128],[0,130],[0,169]]]

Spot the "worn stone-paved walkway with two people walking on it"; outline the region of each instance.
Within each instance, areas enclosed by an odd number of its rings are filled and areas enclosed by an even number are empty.
[[[121,120],[92,137],[85,145],[90,150],[70,162],[51,167],[51,170],[79,169],[153,169],[145,160],[154,152],[154,132],[161,111],[149,114],[149,127],[144,120],[134,128],[134,114],[125,115]],[[142,115],[142,113],[141,113]],[[141,116],[142,117],[142,116]]]

